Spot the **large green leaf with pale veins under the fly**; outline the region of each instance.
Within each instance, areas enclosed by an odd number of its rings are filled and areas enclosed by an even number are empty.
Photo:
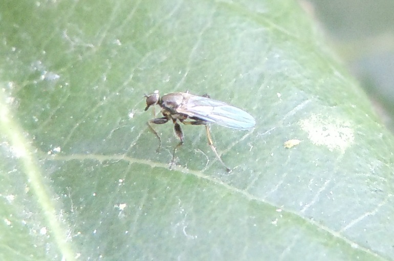
[[[2,5],[0,259],[394,259],[393,137],[296,3]],[[170,169],[155,90],[256,118],[231,173],[192,125]]]

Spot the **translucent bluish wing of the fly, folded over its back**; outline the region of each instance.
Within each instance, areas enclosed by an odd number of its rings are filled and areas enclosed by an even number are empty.
[[[191,94],[184,95],[186,99],[177,108],[178,113],[236,129],[248,129],[256,124],[254,118],[240,108],[206,97]]]

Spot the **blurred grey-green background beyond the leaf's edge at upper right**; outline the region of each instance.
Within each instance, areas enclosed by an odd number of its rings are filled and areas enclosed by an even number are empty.
[[[394,1],[299,1],[394,132]]]

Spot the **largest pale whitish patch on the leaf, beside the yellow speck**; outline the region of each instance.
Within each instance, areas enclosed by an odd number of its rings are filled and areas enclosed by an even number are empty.
[[[337,149],[344,153],[354,142],[352,125],[339,118],[312,115],[308,119],[300,120],[299,125],[315,145],[327,146],[331,151]]]

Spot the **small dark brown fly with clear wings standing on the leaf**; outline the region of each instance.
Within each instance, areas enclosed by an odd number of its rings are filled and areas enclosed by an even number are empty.
[[[186,92],[169,93],[160,97],[159,91],[155,91],[153,94],[145,95],[145,98],[145,111],[147,111],[150,106],[155,105],[159,105],[162,108],[161,113],[163,117],[148,121],[149,128],[159,139],[159,148],[161,146],[161,139],[151,126],[151,123],[164,124],[168,121],[172,121],[175,133],[181,141],[174,148],[171,164],[174,161],[177,148],[183,144],[184,140],[181,125],[178,121],[186,125],[205,125],[208,145],[228,172],[230,172],[231,169],[224,164],[216,148],[213,146],[209,123],[217,123],[234,129],[249,129],[256,124],[256,121],[249,113],[222,101],[213,100],[208,95],[197,96]]]

